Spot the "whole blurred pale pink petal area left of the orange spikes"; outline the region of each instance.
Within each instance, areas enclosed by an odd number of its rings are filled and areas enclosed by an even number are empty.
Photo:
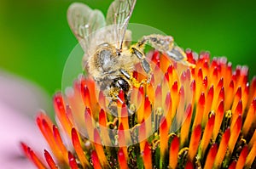
[[[20,141],[38,155],[47,144],[31,117],[39,108],[49,107],[42,89],[0,71],[0,164],[3,168],[35,168],[20,149]]]

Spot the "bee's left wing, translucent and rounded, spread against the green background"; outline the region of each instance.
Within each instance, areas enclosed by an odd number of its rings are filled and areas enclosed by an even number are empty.
[[[87,57],[86,54],[90,53],[91,39],[94,38],[92,33],[106,25],[104,15],[84,3],[73,3],[67,10],[67,21]]]

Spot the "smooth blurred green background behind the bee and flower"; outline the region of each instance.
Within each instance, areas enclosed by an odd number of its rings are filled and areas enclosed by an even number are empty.
[[[77,44],[67,25],[74,0],[1,0],[0,69],[23,76],[53,95]],[[80,1],[106,14],[111,0]],[[151,25],[175,37],[182,48],[226,56],[256,75],[254,1],[137,0],[132,23]]]

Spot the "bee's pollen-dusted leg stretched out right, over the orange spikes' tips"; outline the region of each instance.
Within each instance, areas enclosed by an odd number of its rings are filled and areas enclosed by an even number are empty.
[[[190,64],[187,61],[187,56],[184,53],[183,49],[175,45],[173,38],[170,36],[162,36],[155,34],[144,36],[139,42],[137,42],[136,47],[143,51],[146,43],[149,43],[156,50],[160,51],[163,54],[166,54],[170,58],[182,63],[183,65],[195,67],[195,65]]]

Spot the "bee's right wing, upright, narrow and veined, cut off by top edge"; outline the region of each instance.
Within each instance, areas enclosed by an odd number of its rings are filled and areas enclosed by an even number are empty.
[[[125,31],[136,0],[114,0],[108,8],[107,25],[114,25],[113,31],[115,41],[117,42],[116,48],[121,50],[122,43],[125,38]]]

